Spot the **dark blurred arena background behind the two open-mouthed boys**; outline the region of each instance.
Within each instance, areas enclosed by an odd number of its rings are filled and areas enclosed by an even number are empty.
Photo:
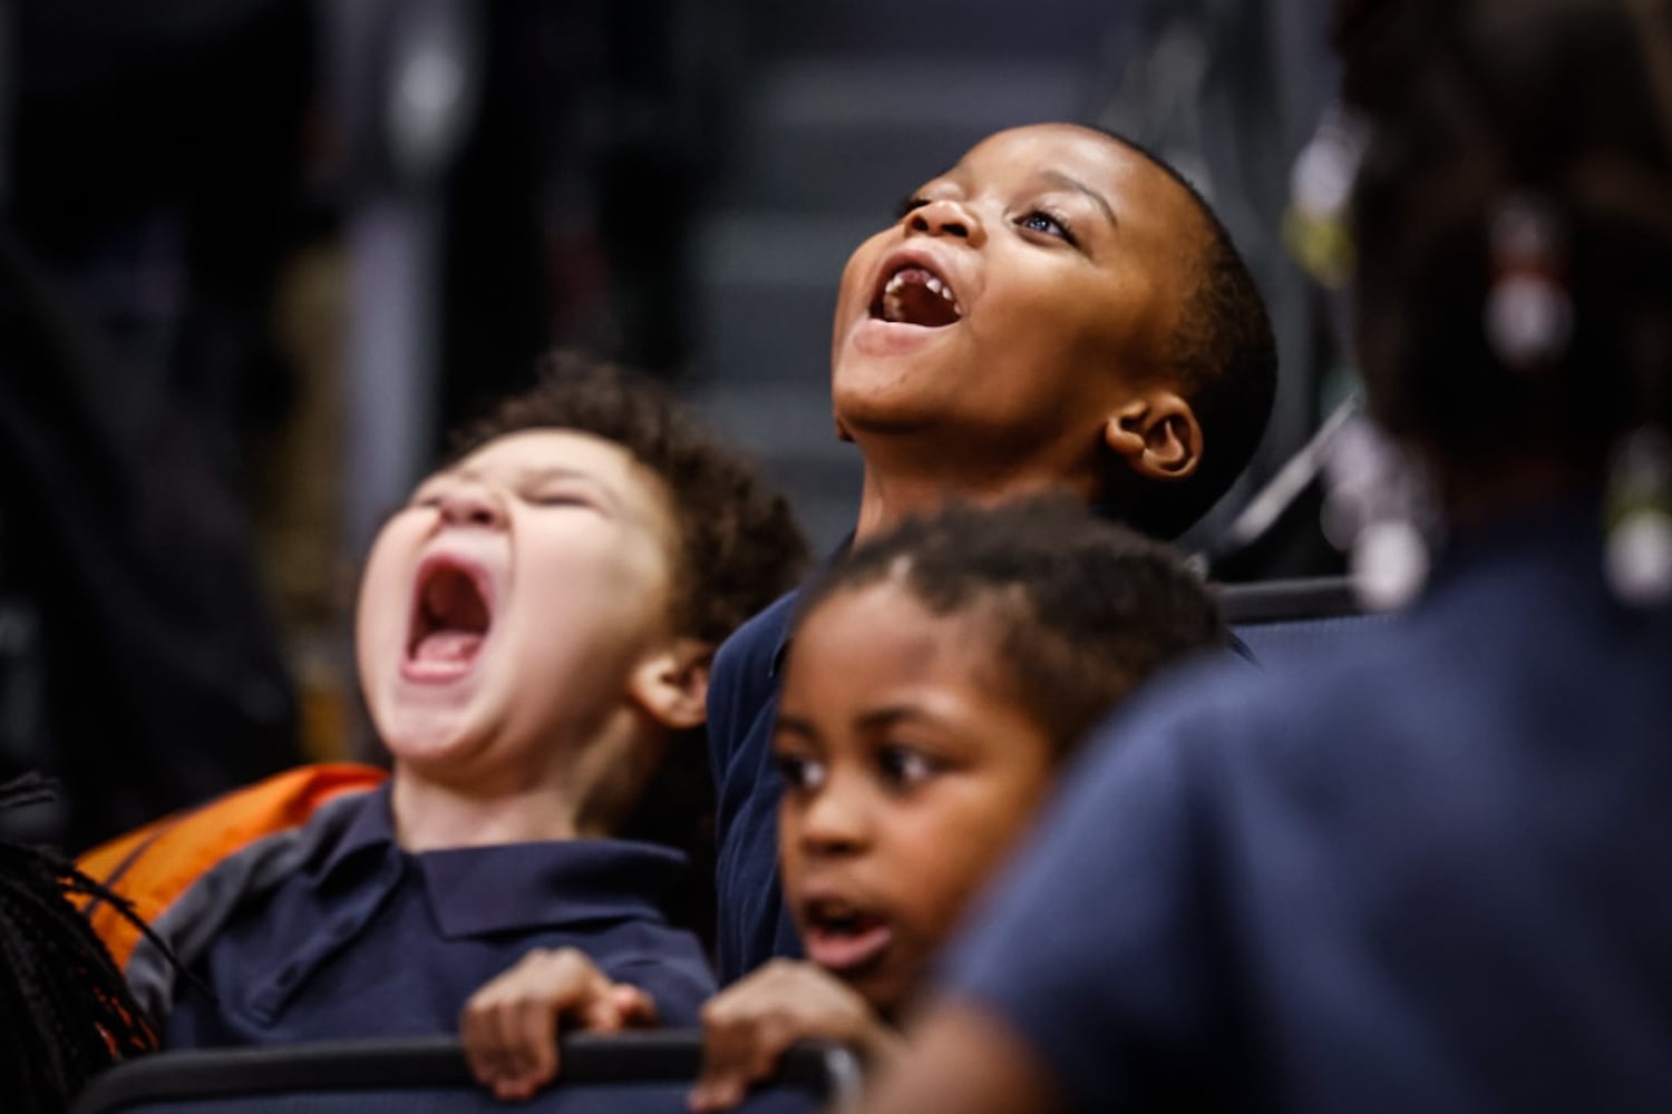
[[[80,848],[364,757],[354,570],[443,431],[553,346],[665,376],[819,548],[836,281],[983,135],[1100,124],[1187,174],[1271,304],[1277,411],[1187,538],[1341,568],[1353,392],[1284,247],[1328,0],[0,0],[0,777]]]

